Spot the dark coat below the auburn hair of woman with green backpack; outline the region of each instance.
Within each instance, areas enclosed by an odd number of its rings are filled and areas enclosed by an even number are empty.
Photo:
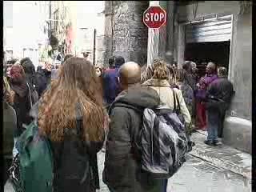
[[[78,120],[78,122],[81,122]],[[51,142],[54,152],[54,192],[99,189],[97,153],[102,142],[82,142],[81,132],[67,129],[63,142]]]

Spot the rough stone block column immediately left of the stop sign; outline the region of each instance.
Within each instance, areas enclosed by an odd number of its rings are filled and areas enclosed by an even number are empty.
[[[148,31],[142,15],[148,5],[143,1],[106,2],[105,63],[112,55],[120,55],[126,62],[146,63]]]

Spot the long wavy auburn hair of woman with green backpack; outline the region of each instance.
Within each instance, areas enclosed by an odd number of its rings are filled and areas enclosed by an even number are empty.
[[[42,96],[38,114],[40,133],[53,141],[62,141],[66,128],[75,129],[78,113],[82,115],[82,138],[101,141],[105,118],[101,83],[89,61],[68,58],[60,68],[59,78]]]

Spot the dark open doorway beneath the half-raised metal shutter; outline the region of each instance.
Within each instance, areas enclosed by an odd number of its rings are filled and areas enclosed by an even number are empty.
[[[225,66],[229,70],[230,41],[187,43],[185,60],[197,63],[200,76],[205,74],[207,62]]]

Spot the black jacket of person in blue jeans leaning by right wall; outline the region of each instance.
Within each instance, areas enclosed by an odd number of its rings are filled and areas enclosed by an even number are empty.
[[[210,83],[206,91],[206,106],[227,110],[234,95],[232,83],[227,78],[218,78]]]

